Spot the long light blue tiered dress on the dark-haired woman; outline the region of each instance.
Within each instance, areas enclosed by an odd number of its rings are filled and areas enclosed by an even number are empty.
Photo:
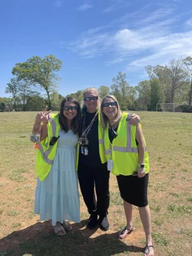
[[[34,213],[40,221],[63,220],[80,222],[78,179],[75,170],[78,136],[69,130],[60,131],[57,150],[49,175],[44,181],[37,178]]]

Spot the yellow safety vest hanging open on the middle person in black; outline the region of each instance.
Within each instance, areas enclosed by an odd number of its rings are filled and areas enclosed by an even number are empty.
[[[101,125],[100,122],[100,110],[98,111],[98,139],[99,139],[99,156],[101,159],[101,163],[105,163],[106,162],[106,156],[105,156],[105,152],[104,152],[104,140],[103,140],[103,136],[104,136],[104,130],[103,127]],[[78,161],[79,161],[79,147],[80,144],[78,142],[77,144],[77,154],[76,154],[76,170],[78,169]]]

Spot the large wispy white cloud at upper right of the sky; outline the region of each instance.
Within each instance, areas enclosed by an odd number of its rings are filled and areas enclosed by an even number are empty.
[[[134,28],[130,24],[111,32],[107,32],[110,25],[89,30],[73,42],[71,49],[87,58],[105,55],[106,65],[121,62],[129,70],[148,64],[164,65],[174,57],[192,55],[192,30],[173,32],[172,25],[179,16],[170,18],[172,10],[163,10],[151,13],[145,21],[137,19],[139,26]]]

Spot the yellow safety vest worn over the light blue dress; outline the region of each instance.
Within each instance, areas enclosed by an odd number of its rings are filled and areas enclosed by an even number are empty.
[[[53,146],[49,145],[52,137],[58,137],[60,124],[58,120],[59,114],[51,114],[51,118],[47,124],[48,136],[38,142],[39,148],[36,150],[36,173],[40,181],[44,181],[48,176],[53,159],[57,150],[57,141]]]

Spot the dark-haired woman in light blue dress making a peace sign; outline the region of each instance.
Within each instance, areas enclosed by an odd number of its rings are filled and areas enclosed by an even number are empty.
[[[34,212],[40,214],[40,221],[51,219],[54,232],[63,236],[72,229],[68,221],[80,222],[75,160],[81,110],[75,98],[67,97],[61,102],[59,114],[49,113],[37,114],[33,127],[34,136],[40,134]]]

